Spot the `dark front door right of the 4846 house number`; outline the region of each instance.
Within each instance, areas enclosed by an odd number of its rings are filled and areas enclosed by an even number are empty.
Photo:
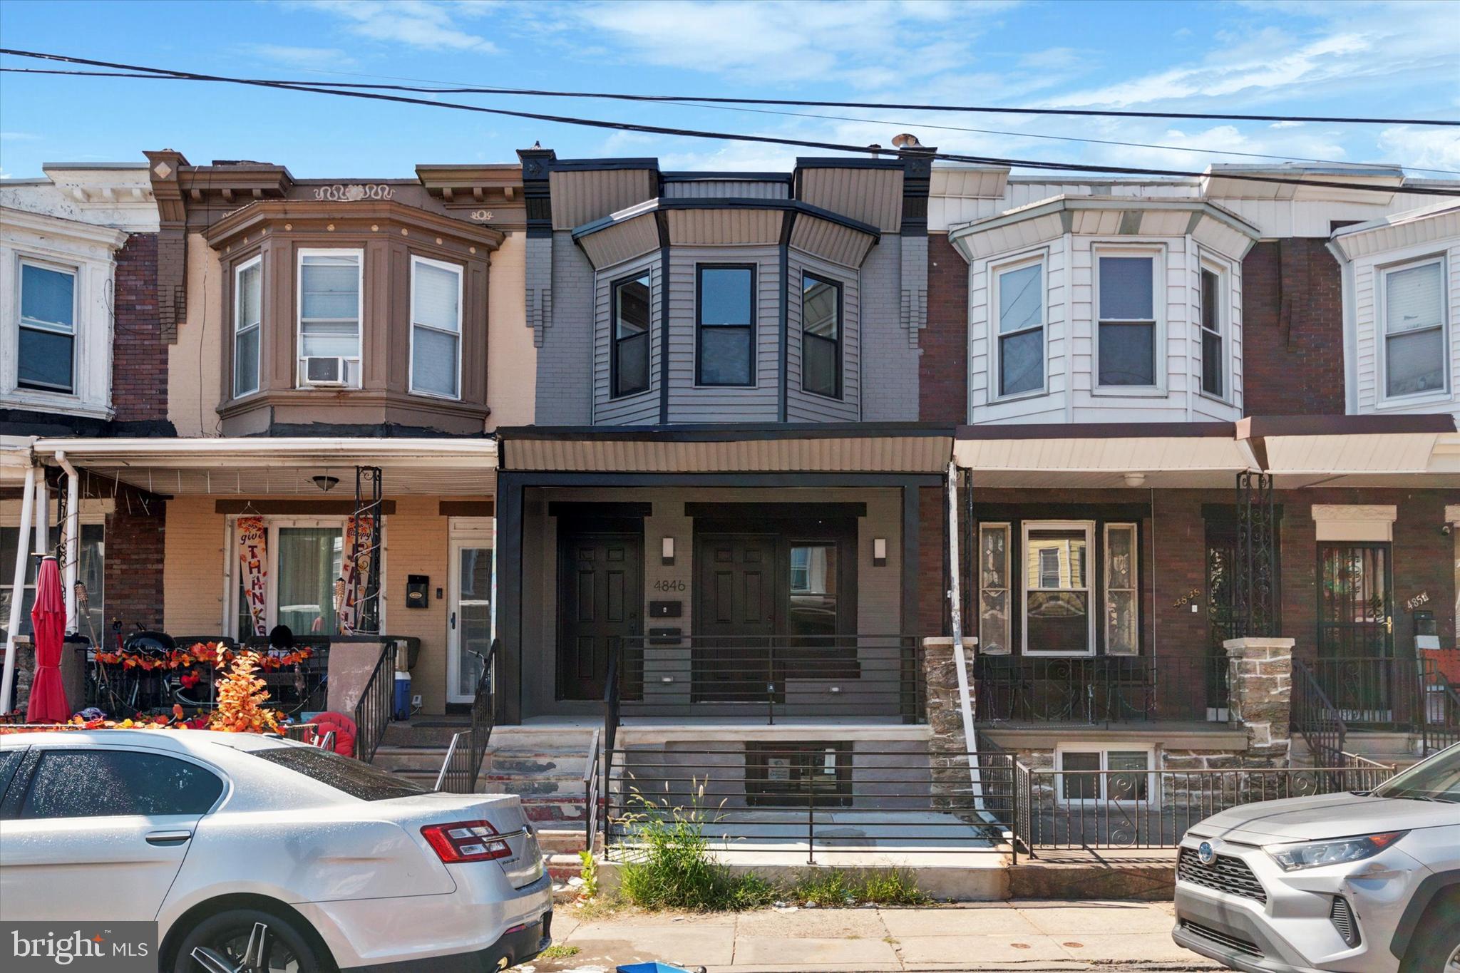
[[[780,602],[774,534],[695,538],[696,702],[765,702]]]

